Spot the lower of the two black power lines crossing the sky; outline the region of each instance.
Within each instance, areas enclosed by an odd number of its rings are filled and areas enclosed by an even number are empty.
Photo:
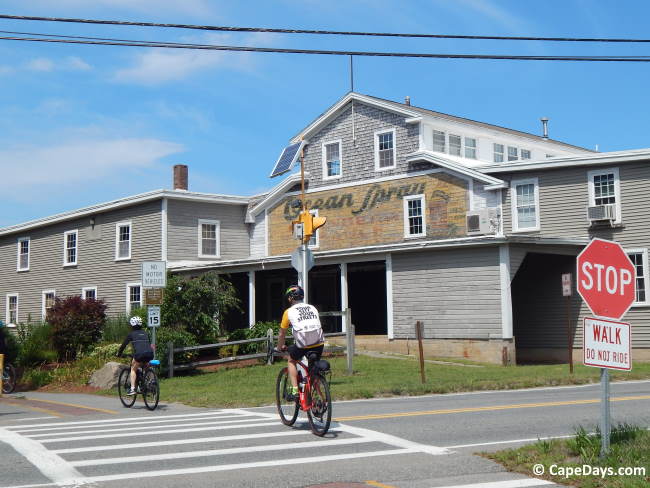
[[[47,34],[38,34],[47,35]],[[80,37],[80,36],[79,36]],[[166,49],[197,49],[206,51],[232,51],[232,52],[260,52],[260,53],[283,53],[283,54],[319,54],[333,56],[377,56],[393,58],[431,58],[431,59],[482,59],[482,60],[513,60],[513,61],[601,61],[601,62],[650,62],[650,56],[532,56],[532,55],[508,55],[508,54],[444,54],[444,53],[399,53],[399,52],[375,52],[375,51],[333,51],[322,49],[289,49],[270,48],[254,46],[228,46],[213,44],[184,44],[174,42],[156,41],[134,41],[134,40],[89,40],[79,38],[34,38],[34,37],[12,37],[0,36],[4,41],[23,42],[49,42],[59,44],[85,44],[99,46],[126,46],[126,47],[155,47]]]

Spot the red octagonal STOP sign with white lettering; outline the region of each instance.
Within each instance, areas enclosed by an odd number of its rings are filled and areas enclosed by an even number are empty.
[[[616,242],[593,239],[578,254],[578,293],[594,315],[618,320],[636,297],[636,269]]]

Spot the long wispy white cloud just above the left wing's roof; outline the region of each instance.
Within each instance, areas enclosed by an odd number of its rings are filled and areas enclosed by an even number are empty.
[[[77,140],[48,147],[0,150],[0,193],[15,200],[45,200],[83,185],[127,179],[161,158],[183,151],[159,139]]]

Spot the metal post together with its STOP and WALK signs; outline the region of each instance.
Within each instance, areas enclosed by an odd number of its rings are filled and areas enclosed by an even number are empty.
[[[577,258],[577,290],[598,317],[584,321],[585,366],[601,368],[600,456],[609,452],[609,369],[632,369],[630,324],[616,322],[636,298],[636,269],[616,242],[593,239]]]

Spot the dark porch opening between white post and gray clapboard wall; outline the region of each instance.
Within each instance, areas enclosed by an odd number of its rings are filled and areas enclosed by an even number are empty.
[[[348,264],[348,303],[358,335],[386,335],[386,263]]]

